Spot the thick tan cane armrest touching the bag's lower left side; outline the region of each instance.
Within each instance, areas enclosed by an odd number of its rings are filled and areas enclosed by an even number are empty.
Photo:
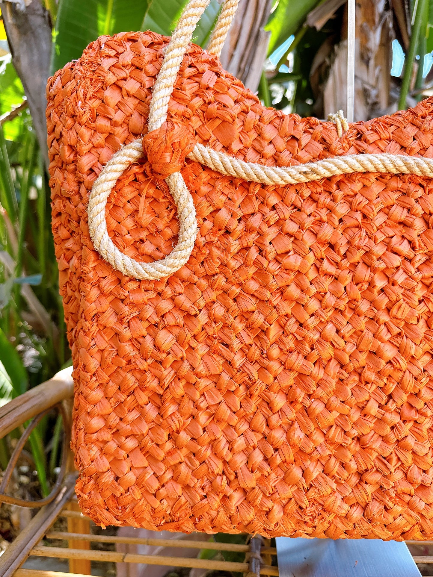
[[[0,439],[42,411],[68,399],[73,391],[72,367],[68,367],[55,374],[53,379],[12,399],[0,407]]]

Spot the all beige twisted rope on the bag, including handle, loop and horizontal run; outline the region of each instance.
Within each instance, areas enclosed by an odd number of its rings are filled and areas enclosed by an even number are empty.
[[[166,48],[166,54],[152,91],[149,131],[160,128],[167,117],[167,110],[174,83],[191,42],[193,31],[209,0],[190,0],[178,22],[176,30]],[[212,35],[209,50],[213,54],[221,53],[230,24],[236,12],[238,0],[226,0]],[[330,115],[337,124],[338,136],[342,129],[349,128],[342,111]],[[139,263],[126,256],[114,246],[107,231],[105,210],[107,198],[120,175],[143,154],[141,138],[121,148],[104,166],[89,195],[88,224],[94,243],[104,260],[111,266],[132,278],[154,280],[170,276],[188,261],[197,236],[196,212],[192,196],[186,188],[180,172],[166,178],[169,190],[177,206],[180,230],[178,243],[173,251],[162,260],[153,263]],[[225,152],[216,152],[201,144],[196,144],[188,158],[204,164],[221,174],[242,178],[245,181],[261,182],[266,185],[287,185],[297,182],[310,182],[328,178],[337,174],[380,172],[413,173],[433,178],[433,160],[412,156],[390,154],[361,154],[339,156],[297,166],[270,167],[262,164],[244,162],[229,156]]]

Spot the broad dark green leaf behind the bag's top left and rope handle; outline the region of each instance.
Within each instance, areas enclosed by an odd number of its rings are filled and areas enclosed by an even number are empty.
[[[53,32],[51,73],[80,58],[102,34],[152,30],[169,36],[186,0],[60,0]],[[195,31],[195,42],[206,42],[219,10],[212,0]]]

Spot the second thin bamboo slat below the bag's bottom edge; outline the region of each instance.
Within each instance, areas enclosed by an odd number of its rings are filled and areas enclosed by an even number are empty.
[[[145,563],[147,565],[168,565],[169,567],[189,567],[196,569],[219,569],[220,571],[248,572],[248,563],[217,561],[207,559],[186,559],[185,557],[165,557],[162,555],[138,555],[116,551],[82,551],[66,547],[35,547],[31,555],[38,557],[56,557],[58,559],[89,559],[91,561],[111,561],[112,563]],[[261,575],[278,577],[278,568],[265,565]]]

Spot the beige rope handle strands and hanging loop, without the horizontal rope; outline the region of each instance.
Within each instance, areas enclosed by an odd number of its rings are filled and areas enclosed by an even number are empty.
[[[148,132],[159,129],[167,118],[170,96],[176,83],[180,65],[191,43],[195,27],[210,0],[190,0],[178,21],[176,29],[167,45],[162,66],[152,90],[152,100],[148,117]],[[226,0],[214,32],[209,51],[219,57],[223,43],[229,32],[238,0]],[[197,222],[191,193],[186,188],[180,172],[166,178],[171,196],[177,207],[180,230],[178,242],[171,253],[154,263],[139,263],[122,253],[113,243],[107,231],[105,210],[107,198],[121,174],[143,154],[141,138],[115,153],[95,180],[87,207],[89,232],[94,247],[99,254],[117,271],[137,279],[158,280],[178,271],[188,261],[197,237]]]

